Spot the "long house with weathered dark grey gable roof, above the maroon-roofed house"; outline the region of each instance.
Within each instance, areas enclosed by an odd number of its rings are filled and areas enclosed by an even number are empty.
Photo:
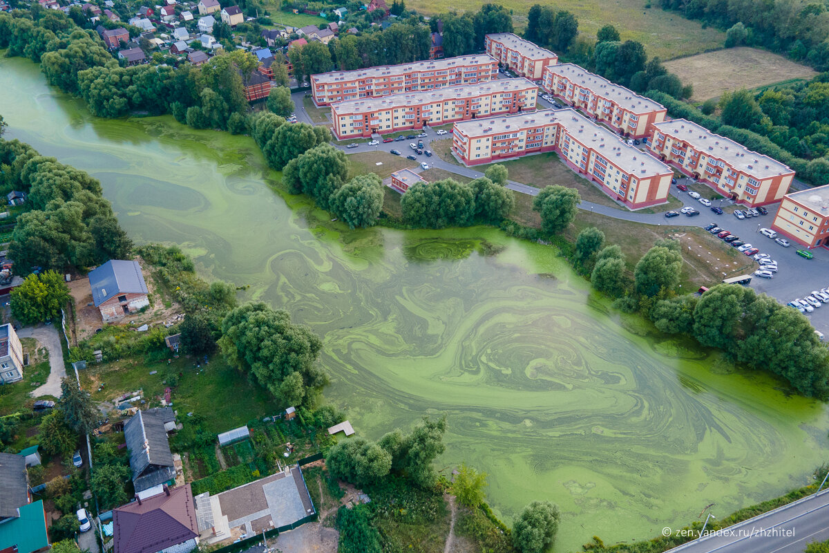
[[[129,468],[138,497],[162,492],[164,484],[175,481],[176,468],[167,441],[167,432],[175,428],[176,415],[170,407],[139,410],[124,424]]]

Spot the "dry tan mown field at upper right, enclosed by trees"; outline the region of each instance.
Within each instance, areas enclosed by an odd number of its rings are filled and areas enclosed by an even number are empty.
[[[718,98],[724,92],[774,83],[812,79],[815,70],[769,51],[741,46],[667,61],[667,69],[694,85],[691,99]]]

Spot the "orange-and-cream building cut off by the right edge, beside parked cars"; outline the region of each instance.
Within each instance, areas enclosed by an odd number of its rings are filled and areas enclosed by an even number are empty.
[[[829,184],[783,196],[772,228],[807,248],[829,248]]]

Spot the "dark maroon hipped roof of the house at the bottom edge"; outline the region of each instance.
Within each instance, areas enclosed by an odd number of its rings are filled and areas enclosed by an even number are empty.
[[[156,553],[198,536],[190,484],[112,510],[115,553]]]

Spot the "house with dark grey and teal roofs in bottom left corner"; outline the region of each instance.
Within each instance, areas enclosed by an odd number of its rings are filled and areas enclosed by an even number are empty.
[[[0,454],[0,551],[34,553],[49,548],[43,502],[32,503],[26,458]]]

